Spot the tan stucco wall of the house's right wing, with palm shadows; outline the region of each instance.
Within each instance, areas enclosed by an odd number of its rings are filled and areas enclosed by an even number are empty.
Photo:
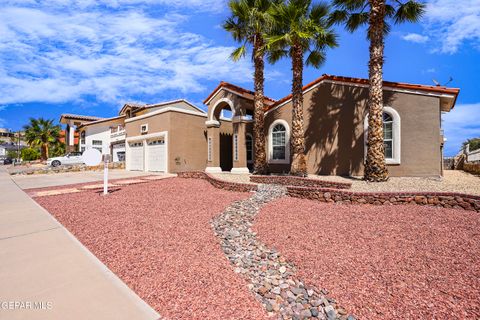
[[[367,88],[332,83],[305,93],[309,173],[363,175],[367,97]],[[388,165],[390,175],[441,175],[439,99],[384,91],[384,105],[395,109],[401,118],[401,163]],[[285,119],[291,125],[291,106],[290,101],[267,113],[266,134],[276,119]],[[288,172],[289,165],[271,164],[270,169]]]

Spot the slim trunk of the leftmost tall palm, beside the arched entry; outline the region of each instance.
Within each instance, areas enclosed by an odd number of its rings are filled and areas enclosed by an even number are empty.
[[[254,90],[253,98],[254,116],[253,116],[253,131],[255,141],[255,160],[253,164],[254,174],[265,174],[267,172],[267,155],[265,152],[265,111],[264,111],[264,53],[261,50],[263,47],[263,38],[257,34],[255,36],[255,43],[253,47],[253,63],[255,67],[254,73]]]

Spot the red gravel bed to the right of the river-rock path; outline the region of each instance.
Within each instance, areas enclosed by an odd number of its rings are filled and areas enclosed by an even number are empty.
[[[282,198],[255,229],[360,319],[480,319],[480,215]]]

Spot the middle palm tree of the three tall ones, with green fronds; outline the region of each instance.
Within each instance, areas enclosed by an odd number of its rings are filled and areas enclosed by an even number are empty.
[[[282,57],[292,60],[292,163],[290,174],[305,176],[305,136],[303,120],[303,64],[319,68],[326,58],[326,49],[337,46],[337,36],[329,28],[329,6],[312,5],[310,0],[289,0],[270,10],[275,26],[266,38],[268,60],[275,63]]]

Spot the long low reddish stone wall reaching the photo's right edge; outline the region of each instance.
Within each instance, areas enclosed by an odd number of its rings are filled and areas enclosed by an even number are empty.
[[[291,197],[344,204],[416,204],[480,212],[480,196],[451,192],[354,192],[332,188],[288,186]]]

